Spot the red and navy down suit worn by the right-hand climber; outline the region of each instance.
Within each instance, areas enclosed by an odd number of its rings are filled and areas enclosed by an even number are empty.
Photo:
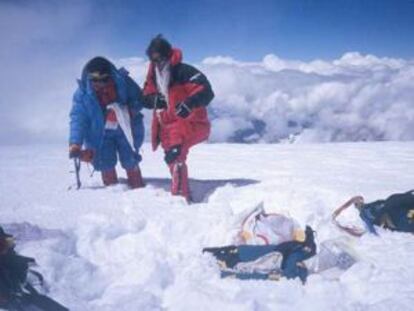
[[[182,52],[177,48],[172,49],[169,59],[170,80],[168,84],[168,106],[162,110],[155,110],[151,126],[151,140],[153,150],[161,144],[164,151],[174,146],[181,146],[179,157],[169,165],[172,181],[172,193],[181,194],[188,198],[187,167],[185,161],[191,146],[207,140],[210,134],[210,122],[208,120],[206,106],[214,98],[210,82],[206,76],[191,65],[182,63]],[[157,88],[155,64],[150,63],[147,78],[144,85],[144,106],[153,108],[150,103],[154,96],[160,93]],[[176,107],[184,102],[191,113],[186,118],[176,115]],[[177,164],[182,166],[183,177],[179,185],[175,184],[174,171]],[[182,189],[177,189],[181,187]],[[178,193],[177,193],[178,192]]]

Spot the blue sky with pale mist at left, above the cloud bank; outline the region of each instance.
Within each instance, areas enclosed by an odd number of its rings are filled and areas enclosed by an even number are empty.
[[[84,63],[145,57],[158,33],[190,63],[309,62],[352,51],[411,60],[413,30],[414,0],[1,0],[0,143],[63,136]]]

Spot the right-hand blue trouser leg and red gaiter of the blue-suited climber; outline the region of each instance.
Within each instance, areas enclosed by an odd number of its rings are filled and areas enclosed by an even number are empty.
[[[142,158],[132,149],[132,146],[120,128],[117,130],[116,145],[121,166],[127,173],[128,185],[132,189],[144,187],[141,170],[139,168],[139,162]]]

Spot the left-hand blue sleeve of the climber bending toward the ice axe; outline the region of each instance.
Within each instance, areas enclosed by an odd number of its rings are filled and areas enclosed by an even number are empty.
[[[79,91],[73,96],[72,109],[70,111],[69,144],[82,145],[88,126],[87,113],[83,106],[82,95]]]

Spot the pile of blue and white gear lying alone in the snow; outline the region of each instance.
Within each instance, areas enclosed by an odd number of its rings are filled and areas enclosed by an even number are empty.
[[[266,213],[263,203],[240,217],[233,245],[206,248],[219,264],[221,276],[242,280],[306,280],[311,273],[337,277],[352,266],[358,256],[351,240],[323,241],[316,254],[314,233],[281,213]],[[306,265],[305,265],[306,261]]]

